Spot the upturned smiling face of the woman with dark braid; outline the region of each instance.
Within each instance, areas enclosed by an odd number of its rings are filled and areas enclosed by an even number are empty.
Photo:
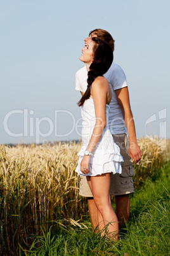
[[[93,53],[93,47],[95,45],[95,42],[93,40],[88,40],[88,44],[86,44],[82,48],[82,55],[79,57],[79,60],[81,60],[84,63],[91,64],[93,62],[94,53]]]

